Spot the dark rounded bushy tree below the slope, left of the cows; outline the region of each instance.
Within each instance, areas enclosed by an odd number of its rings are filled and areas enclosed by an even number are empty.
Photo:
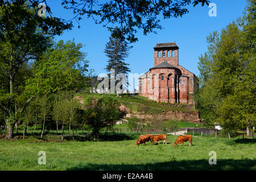
[[[114,126],[121,117],[118,106],[119,102],[112,97],[90,98],[85,109],[85,120],[93,128],[94,140],[99,137],[102,128]]]

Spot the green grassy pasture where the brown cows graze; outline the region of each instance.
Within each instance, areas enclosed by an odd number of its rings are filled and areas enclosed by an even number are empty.
[[[136,146],[137,138],[109,134],[93,142],[66,134],[62,142],[59,135],[40,140],[34,133],[18,141],[0,139],[0,170],[256,170],[255,139],[194,137],[193,146],[175,147],[173,135],[167,144],[146,146]],[[46,152],[46,165],[38,164],[39,151]],[[210,151],[217,153],[216,165],[208,163]]]

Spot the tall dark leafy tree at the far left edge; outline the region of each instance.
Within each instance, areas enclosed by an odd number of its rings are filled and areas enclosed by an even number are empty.
[[[31,60],[38,59],[51,45],[53,36],[71,28],[57,18],[38,16],[38,4],[27,1],[0,2],[0,77],[1,110],[5,115],[7,137],[13,138],[14,124],[28,103],[35,98],[24,100],[24,80],[28,76],[24,69]],[[23,97],[22,99],[20,97]]]

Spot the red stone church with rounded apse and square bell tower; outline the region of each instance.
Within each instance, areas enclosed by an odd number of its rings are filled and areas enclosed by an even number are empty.
[[[176,43],[156,44],[154,67],[139,77],[139,95],[159,102],[193,104],[198,87],[195,74],[179,65]]]

